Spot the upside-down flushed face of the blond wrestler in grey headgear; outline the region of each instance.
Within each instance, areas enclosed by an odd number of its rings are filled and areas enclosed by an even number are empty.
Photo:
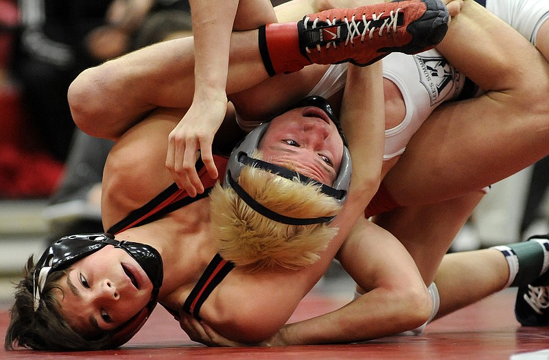
[[[264,160],[324,184],[333,184],[341,165],[343,141],[336,125],[316,106],[295,108],[272,119],[259,149]]]

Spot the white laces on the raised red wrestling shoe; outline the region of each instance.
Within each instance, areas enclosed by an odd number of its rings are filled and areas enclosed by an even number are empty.
[[[391,29],[393,29],[393,32],[397,32],[397,20],[399,16],[401,8],[397,8],[397,10],[390,10],[389,16],[383,21],[383,23],[379,26],[379,31],[377,34],[379,36],[382,36],[383,30],[387,29],[387,34],[390,34]],[[375,29],[377,26],[373,25],[373,21],[379,21],[381,17],[385,14],[385,12],[379,13],[379,15],[372,14],[372,20],[367,21],[366,20],[366,14],[362,14],[362,19],[355,20],[355,15],[351,16],[351,21],[345,16],[343,18],[343,22],[347,26],[347,38],[345,39],[344,45],[347,45],[349,42],[351,44],[354,44],[355,37],[358,37],[360,35],[360,42],[364,43],[364,38],[366,38],[366,34],[368,35],[369,39],[372,40]],[[309,24],[310,17],[305,17],[305,21],[303,23],[305,24],[305,29],[307,29],[307,24]],[[320,19],[317,17],[314,19],[314,21],[311,23],[311,29],[316,29],[318,26],[318,21]],[[328,26],[336,25],[336,22],[338,19],[334,18],[333,20],[326,19],[326,23]],[[364,29],[360,29],[360,25],[364,24]],[[329,49],[329,47],[334,46],[334,48],[337,48],[338,45],[336,44],[336,39],[334,41],[329,41],[329,43],[326,44],[326,49]],[[320,44],[316,44],[316,50],[320,51],[321,47]],[[310,53],[309,47],[305,47],[305,51],[307,53]]]

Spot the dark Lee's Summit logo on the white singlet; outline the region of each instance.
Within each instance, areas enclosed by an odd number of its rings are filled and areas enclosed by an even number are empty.
[[[413,56],[419,71],[419,81],[431,99],[431,106],[457,96],[463,86],[461,73],[442,56]]]

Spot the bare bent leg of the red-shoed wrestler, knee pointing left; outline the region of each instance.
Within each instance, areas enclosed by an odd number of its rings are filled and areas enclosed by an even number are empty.
[[[193,54],[193,39],[180,38],[87,69],[69,88],[75,123],[93,136],[117,139],[158,106],[188,108],[194,91]],[[233,33],[229,69],[227,93],[268,77],[257,30]]]

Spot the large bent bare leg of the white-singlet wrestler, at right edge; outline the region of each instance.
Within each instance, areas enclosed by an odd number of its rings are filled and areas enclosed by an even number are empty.
[[[488,92],[444,104],[412,137],[384,180],[403,205],[482,189],[549,154],[549,71],[535,47],[466,0],[438,48]]]

